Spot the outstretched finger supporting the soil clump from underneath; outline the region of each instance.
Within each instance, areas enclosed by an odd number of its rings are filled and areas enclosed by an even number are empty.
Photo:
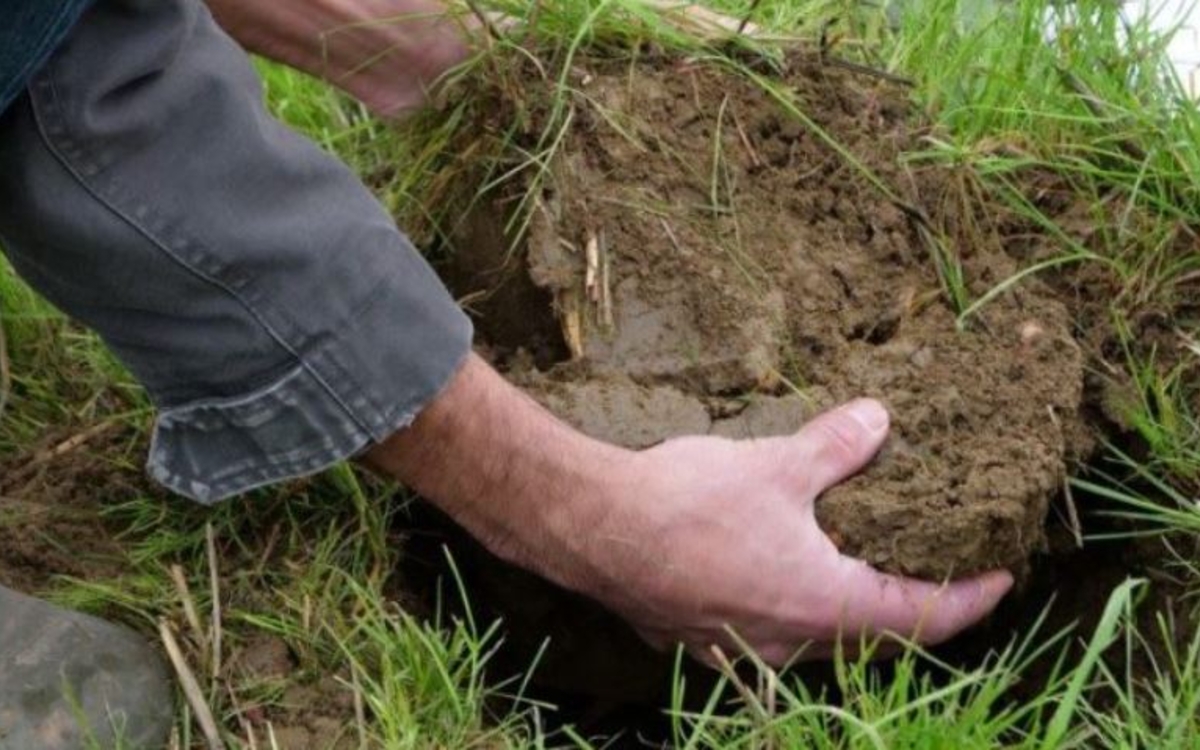
[[[924,644],[941,643],[988,616],[1013,586],[1008,571],[950,583],[882,574],[866,563],[847,565],[841,631],[846,637],[889,634]]]

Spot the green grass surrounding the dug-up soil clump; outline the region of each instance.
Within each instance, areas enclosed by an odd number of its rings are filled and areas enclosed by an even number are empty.
[[[527,19],[532,7],[516,0],[480,5]],[[1134,533],[1175,540],[1180,575],[1195,588],[1200,576],[1187,557],[1194,545],[1177,540],[1200,534],[1200,352],[1186,346],[1187,329],[1198,322],[1175,322],[1184,346],[1170,352],[1142,346],[1135,334],[1147,313],[1200,294],[1200,253],[1192,234],[1200,227],[1200,115],[1166,74],[1164,40],[1144,25],[1121,31],[1116,5],[1100,0],[1057,10],[1016,0],[994,13],[955,0],[914,0],[905,4],[908,12],[894,29],[878,8],[851,2],[709,5],[749,16],[775,38],[816,43],[824,37],[830,54],[913,80],[913,97],[935,127],[923,148],[907,155],[907,166],[962,170],[970,199],[998,202],[1012,221],[1042,238],[1020,274],[980,289],[966,278],[954,242],[936,227],[928,229],[930,262],[964,325],[997,295],[1052,269],[1094,268],[1111,286],[1106,314],[1120,353],[1093,354],[1106,365],[1100,376],[1128,394],[1122,416],[1139,436],[1140,451],[1133,457],[1112,449],[1111,469],[1080,478],[1075,487],[1116,503]],[[260,70],[275,112],[342,156],[426,245],[452,229],[442,206],[451,203],[449,191],[457,190],[463,174],[491,190],[520,180],[529,186],[527,194],[535,194],[571,122],[577,94],[571,61],[584,48],[646,40],[752,77],[781,112],[892,194],[893,186],[862,166],[836,133],[812,122],[803,102],[751,70],[745,50],[724,56],[726,49],[680,34],[634,0],[546,0],[536,8],[534,28],[518,25],[516,38],[539,41],[540,64],[556,95],[542,118],[548,127],[517,152],[529,112],[516,109],[506,130],[463,144],[461,126],[476,114],[470,98],[397,127],[298,73],[274,65]],[[1048,13],[1060,16],[1054,42],[1045,40]],[[1128,44],[1117,43],[1118,32],[1128,34]],[[774,42],[746,46],[762,60],[778,59]],[[518,44],[496,42],[460,77],[491,76],[511,88],[516,66],[522,59],[528,64],[522,55]],[[714,206],[727,187],[716,143]],[[1048,200],[1038,186],[1050,186],[1069,205]],[[514,234],[527,215],[514,214]],[[94,336],[65,322],[7,266],[0,268],[0,305],[11,361],[0,456],[28,450],[54,428],[112,420],[145,431],[151,412],[128,376]],[[136,463],[128,455],[112,461]],[[341,467],[215,510],[152,493],[101,498],[106,522],[124,529],[125,571],[107,580],[62,580],[47,594],[146,634],[169,623],[228,746],[271,746],[269,724],[248,716],[286,716],[288,688],[328,674],[354,702],[347,731],[355,744],[589,746],[577,734],[542,734],[528,720],[542,707],[518,703],[522,708],[503,716],[488,709],[494,691],[521,692],[518,682],[488,685],[484,679],[500,630],[449,617],[422,622],[389,598],[389,571],[402,560],[402,540],[390,530],[394,494],[394,487]],[[839,661],[841,697],[835,701],[750,665],[756,679],[725,674],[718,691],[702,700],[706,708],[684,708],[690,691],[682,678],[677,700],[662,708],[674,726],[673,744],[694,749],[1194,748],[1200,745],[1198,619],[1187,608],[1189,617],[1163,613],[1148,624],[1139,618],[1139,599],[1151,586],[1118,587],[1090,632],[1039,626],[1013,643],[997,643],[974,668],[937,665],[918,649],[883,671]],[[262,679],[220,668],[262,637],[287,646],[293,673]],[[1032,697],[1013,702],[1009,691],[1034,658],[1049,658],[1057,667]],[[1144,665],[1136,682],[1120,668],[1135,661]],[[193,707],[182,701],[178,739],[180,746],[204,746]]]

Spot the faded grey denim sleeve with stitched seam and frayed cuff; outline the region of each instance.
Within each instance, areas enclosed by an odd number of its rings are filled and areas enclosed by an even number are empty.
[[[98,0],[0,116],[0,244],[145,385],[150,472],[200,502],[384,439],[470,346],[383,206],[262,98],[200,0]]]

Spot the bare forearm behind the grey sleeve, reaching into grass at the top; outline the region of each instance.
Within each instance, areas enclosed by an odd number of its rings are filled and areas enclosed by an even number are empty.
[[[318,76],[380,113],[420,106],[469,55],[473,19],[438,0],[208,0],[251,52]]]

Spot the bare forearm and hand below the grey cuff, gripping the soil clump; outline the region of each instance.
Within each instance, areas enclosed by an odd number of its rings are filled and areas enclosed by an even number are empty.
[[[772,664],[844,637],[937,642],[1008,590],[1007,572],[944,587],[842,556],[814,502],[875,455],[887,413],[856,401],[792,437],[689,437],[631,451],[576,432],[472,358],[412,428],[372,451],[493,553],[704,658],[730,630]]]

